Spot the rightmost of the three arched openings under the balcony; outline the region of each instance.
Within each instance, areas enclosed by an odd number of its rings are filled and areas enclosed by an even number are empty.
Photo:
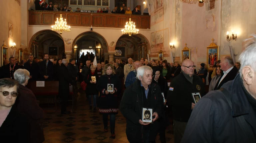
[[[128,58],[140,60],[147,58],[150,54],[150,44],[148,39],[142,34],[122,35],[116,42],[114,58],[127,61]]]

